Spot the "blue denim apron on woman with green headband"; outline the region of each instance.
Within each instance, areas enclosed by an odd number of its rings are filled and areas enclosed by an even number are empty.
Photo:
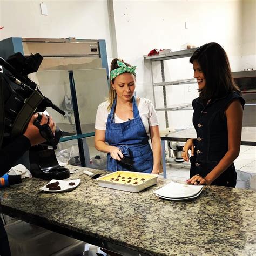
[[[110,114],[107,117],[105,141],[111,146],[119,147],[122,154],[135,161],[135,164],[129,166],[107,154],[107,170],[112,172],[122,170],[151,173],[153,153],[149,144],[149,137],[139,116],[136,99],[133,96],[133,119],[120,124],[114,123],[116,103],[117,100],[114,99]]]

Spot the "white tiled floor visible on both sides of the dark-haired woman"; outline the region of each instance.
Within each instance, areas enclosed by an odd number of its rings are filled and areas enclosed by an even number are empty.
[[[256,175],[256,147],[241,146],[240,154],[234,161],[235,169]],[[167,179],[185,181],[190,176],[190,166],[183,164],[166,164]],[[163,173],[160,174],[163,177]]]

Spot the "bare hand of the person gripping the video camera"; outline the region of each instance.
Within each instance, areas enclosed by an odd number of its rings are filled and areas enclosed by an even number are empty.
[[[38,117],[38,114],[33,114],[28,124],[28,127],[26,128],[26,131],[24,133],[24,136],[26,136],[30,140],[31,146],[35,146],[45,142],[45,138],[41,136],[39,129],[33,124],[37,117]],[[45,116],[45,114],[42,114],[42,120],[40,124],[41,125],[48,124],[53,134],[55,133],[56,125],[55,125],[55,122],[53,122],[51,116],[49,116],[48,118],[47,116]]]

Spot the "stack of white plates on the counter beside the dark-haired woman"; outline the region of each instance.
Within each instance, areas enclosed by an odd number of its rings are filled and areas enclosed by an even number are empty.
[[[195,186],[188,184],[180,184],[171,181],[159,190],[154,191],[154,193],[160,197],[172,201],[185,201],[197,198],[199,194],[203,191],[203,186]]]

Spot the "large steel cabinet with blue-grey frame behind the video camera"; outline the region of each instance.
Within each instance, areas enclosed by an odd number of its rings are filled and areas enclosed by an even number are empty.
[[[93,156],[100,153],[96,152],[93,139],[96,111],[109,89],[105,40],[10,37],[0,41],[3,59],[17,52],[24,56],[38,52],[44,57],[38,71],[29,78],[66,112],[63,117],[47,109],[63,130],[58,149],[75,147],[74,164],[90,167],[89,151]]]

